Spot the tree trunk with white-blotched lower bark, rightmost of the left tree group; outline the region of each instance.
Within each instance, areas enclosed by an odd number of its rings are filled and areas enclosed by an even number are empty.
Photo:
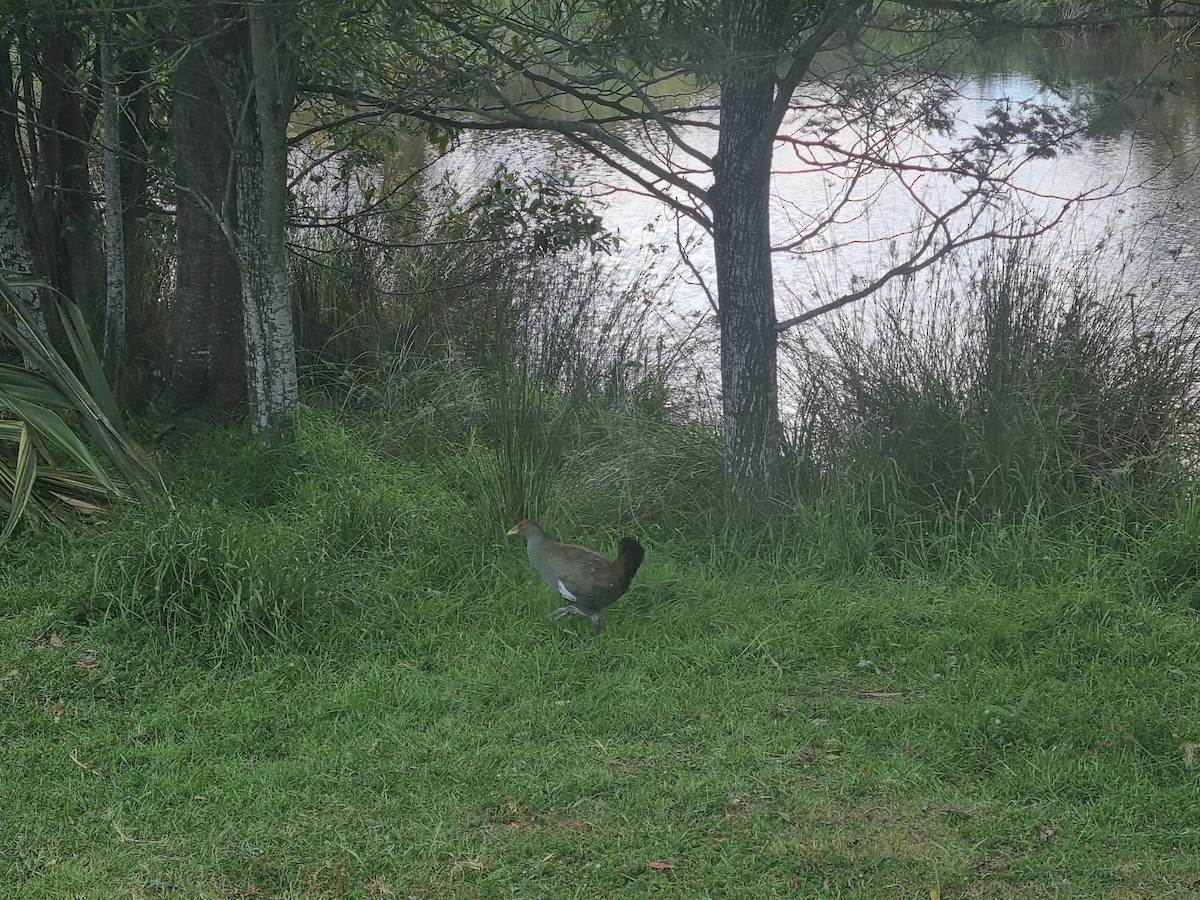
[[[287,271],[287,50],[275,22],[248,6],[250,55],[235,139],[238,262],[251,422],[271,445],[290,438],[296,412],[295,330]]]

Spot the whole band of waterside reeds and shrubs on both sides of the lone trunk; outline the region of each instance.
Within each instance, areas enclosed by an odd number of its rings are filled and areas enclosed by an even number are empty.
[[[490,227],[467,236],[487,246]],[[312,386],[384,455],[449,461],[464,502],[497,523],[742,534],[721,488],[710,323],[673,318],[643,272],[570,254],[530,264],[527,250],[380,257],[366,269],[398,287],[372,293],[364,328],[322,325],[322,308],[348,304],[302,299],[310,331],[343,336]],[[336,294],[337,270],[322,274],[308,289]],[[1169,281],[1133,307],[1114,284],[1098,259],[1063,268],[1001,244],[790,336],[786,485],[743,552],[830,571],[984,559],[1036,574],[1084,546],[1136,556],[1187,532],[1195,323]],[[354,334],[367,340],[350,349]]]

